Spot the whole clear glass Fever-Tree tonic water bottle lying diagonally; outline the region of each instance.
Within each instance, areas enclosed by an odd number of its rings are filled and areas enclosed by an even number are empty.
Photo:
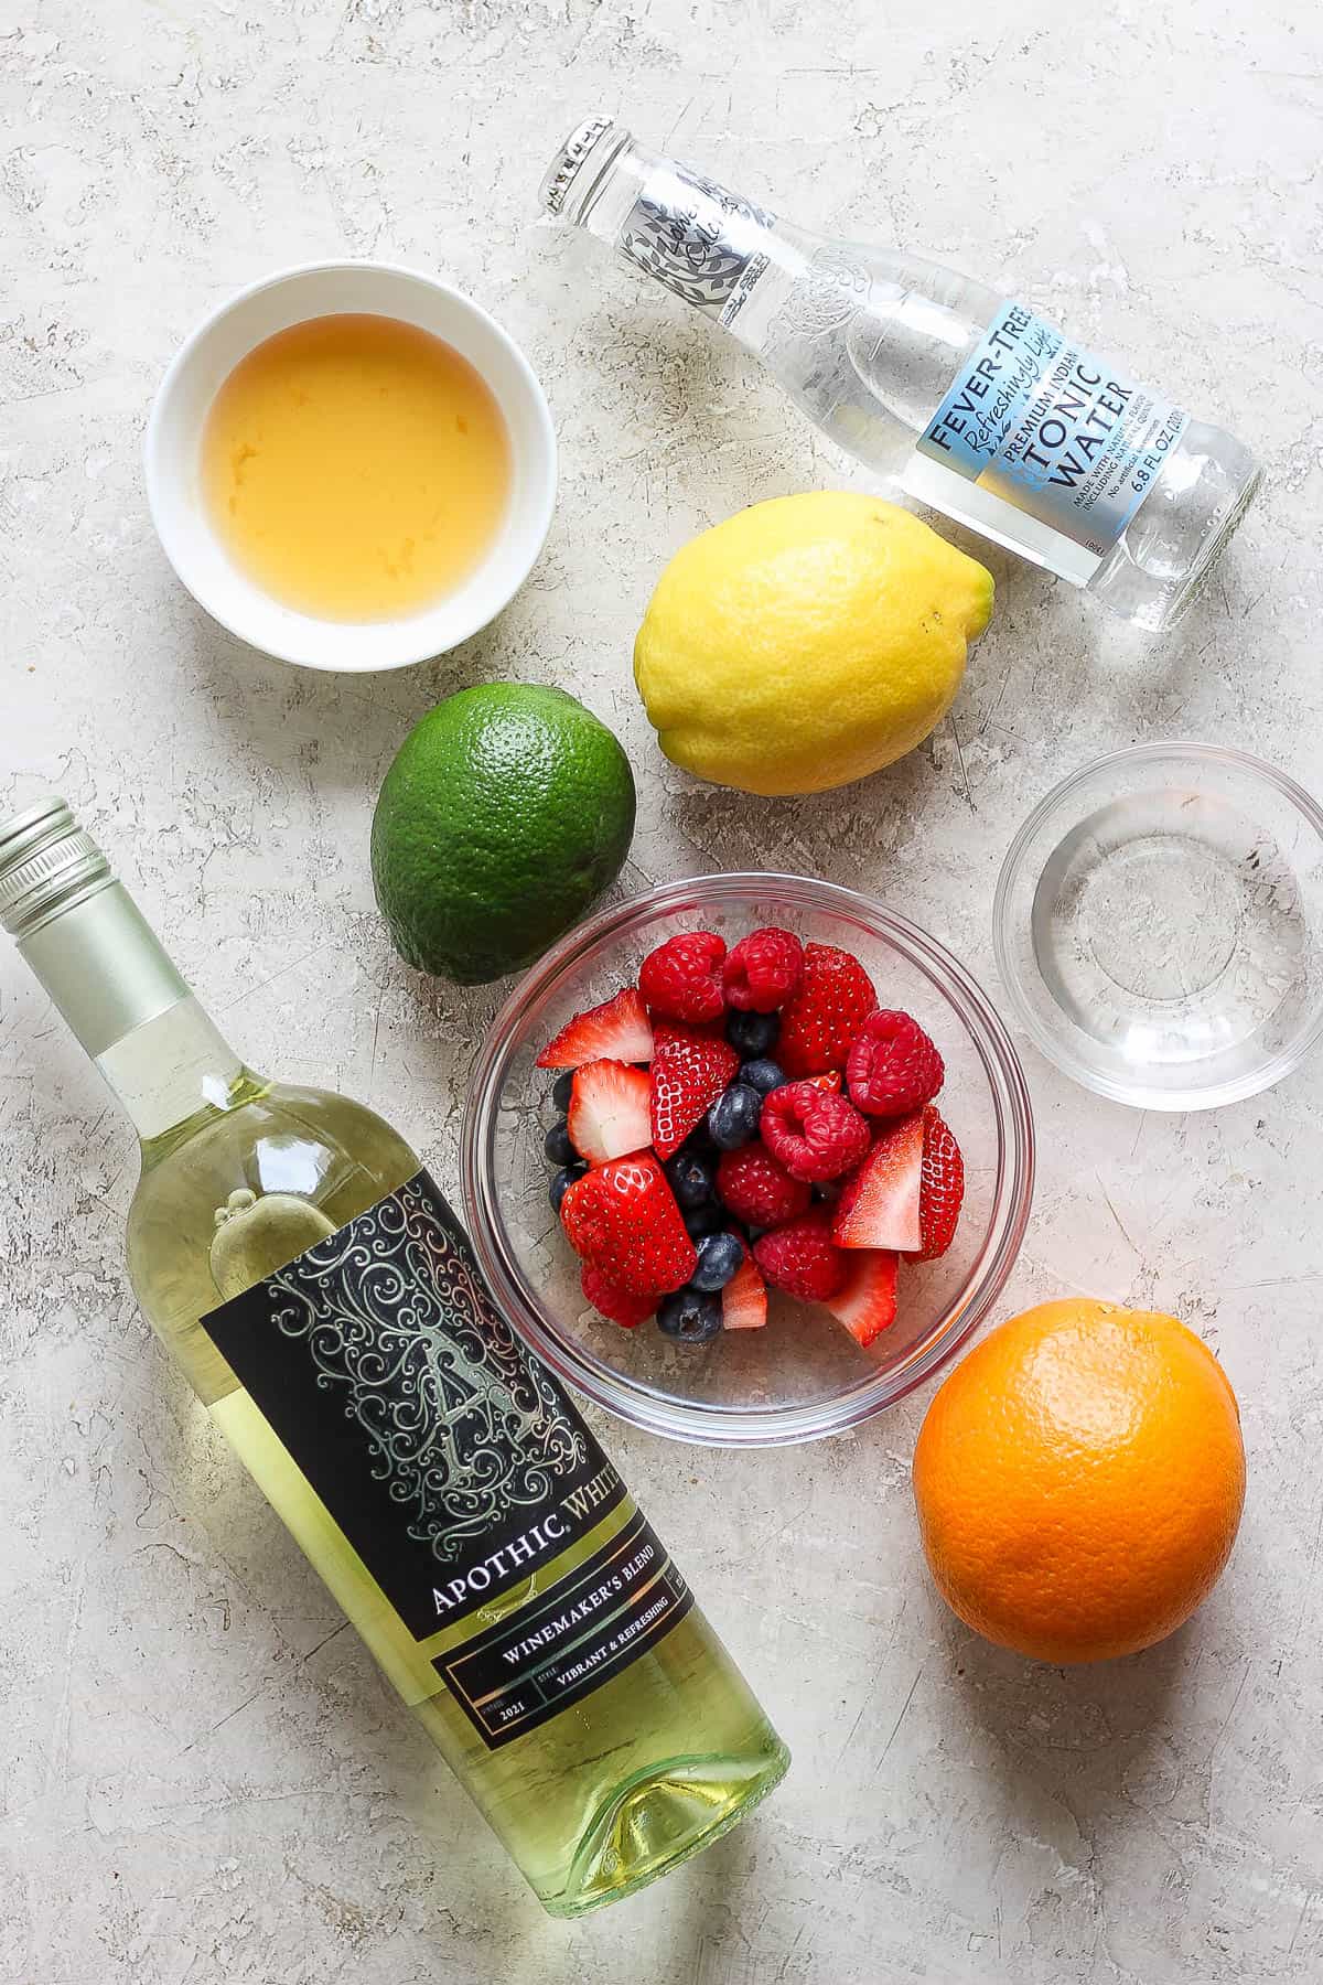
[[[1164,631],[1260,480],[1244,443],[1025,304],[895,248],[825,240],[589,117],[541,183],[768,367],[869,468]]]

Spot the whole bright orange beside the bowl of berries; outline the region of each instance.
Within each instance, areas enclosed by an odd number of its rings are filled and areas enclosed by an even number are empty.
[[[1043,1302],[978,1344],[918,1433],[948,1606],[1039,1661],[1107,1661],[1212,1592],[1246,1499],[1230,1380],[1174,1316]]]

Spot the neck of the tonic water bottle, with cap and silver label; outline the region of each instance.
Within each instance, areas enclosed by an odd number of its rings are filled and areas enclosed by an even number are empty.
[[[676,159],[643,151],[609,119],[571,133],[541,197],[549,212],[587,228],[726,330],[772,254],[774,214]]]

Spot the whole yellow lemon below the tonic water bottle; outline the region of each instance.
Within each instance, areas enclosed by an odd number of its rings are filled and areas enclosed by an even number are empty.
[[[956,699],[992,574],[879,496],[778,496],[670,560],[635,641],[661,748],[742,792],[823,792]]]

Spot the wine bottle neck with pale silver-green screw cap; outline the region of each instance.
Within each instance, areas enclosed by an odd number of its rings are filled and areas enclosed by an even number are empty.
[[[0,921],[149,1143],[242,1064],[61,800],[0,824]]]

